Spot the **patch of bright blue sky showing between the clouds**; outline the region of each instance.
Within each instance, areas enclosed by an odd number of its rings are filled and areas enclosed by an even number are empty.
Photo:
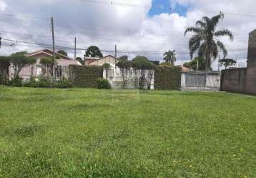
[[[187,7],[176,4],[172,6],[169,0],[153,0],[152,9],[149,11],[149,16],[159,15],[162,13],[177,13],[180,16],[185,16]]]

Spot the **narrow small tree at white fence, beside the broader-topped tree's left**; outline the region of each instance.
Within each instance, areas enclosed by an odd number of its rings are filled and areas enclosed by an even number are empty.
[[[122,88],[126,88],[127,87],[127,80],[128,80],[128,76],[129,76],[129,70],[132,67],[131,61],[128,60],[120,60],[117,63],[117,67],[120,69],[121,72],[121,76],[122,76]]]

